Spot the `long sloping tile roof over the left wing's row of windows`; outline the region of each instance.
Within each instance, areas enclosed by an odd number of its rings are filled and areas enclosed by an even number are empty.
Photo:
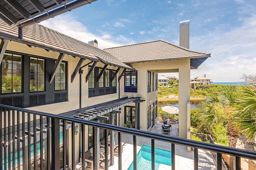
[[[0,20],[0,34],[8,34],[17,39],[18,28],[16,26],[9,26]],[[51,47],[52,49],[58,49],[63,51],[63,53],[73,56],[90,59],[92,61],[99,61],[100,59],[100,61],[109,65],[133,69],[102,49],[39,24],[23,28],[23,40]],[[17,39],[18,42],[22,42],[23,40]]]

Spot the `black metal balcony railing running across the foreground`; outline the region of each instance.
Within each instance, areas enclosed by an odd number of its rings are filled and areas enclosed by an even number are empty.
[[[81,140],[75,141],[76,125],[80,125]],[[104,129],[104,137],[108,137],[109,130],[118,132],[118,150],[122,150],[122,134],[133,135],[133,169],[137,169],[137,137],[142,136],[151,140],[152,169],[155,169],[155,144],[156,141],[169,142],[172,152],[172,170],[175,169],[175,146],[183,145],[194,150],[194,169],[198,169],[198,149],[216,152],[216,168],[221,170],[221,154],[235,156],[236,170],[240,170],[241,158],[255,160],[256,154],[253,151],[230,148],[227,146],[214,145],[210,143],[188,140],[164,134],[155,134],[142,130],[119,127],[95,121],[86,121],[73,117],[54,115],[38,111],[31,111],[17,107],[0,105],[0,169],[66,169],[72,164],[75,169],[76,158],[85,159],[86,139],[85,126],[93,127],[93,169],[100,169],[99,158],[99,129]],[[71,128],[71,134],[66,130]],[[70,140],[67,140],[70,139]],[[70,142],[71,141],[71,142]],[[81,153],[76,154],[75,144],[81,145]],[[105,140],[105,146],[108,145]],[[71,162],[67,159],[69,158]],[[108,158],[108,147],[105,147],[105,158]],[[15,160],[15,161],[14,161]],[[82,161],[84,170],[85,162]],[[108,169],[108,160],[105,159],[104,169]],[[118,152],[118,169],[122,169],[122,153]]]

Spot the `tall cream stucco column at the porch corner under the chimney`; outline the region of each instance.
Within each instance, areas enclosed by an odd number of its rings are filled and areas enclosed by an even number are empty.
[[[190,59],[184,59],[179,67],[179,137],[188,138],[190,130]],[[189,111],[189,112],[188,112]]]

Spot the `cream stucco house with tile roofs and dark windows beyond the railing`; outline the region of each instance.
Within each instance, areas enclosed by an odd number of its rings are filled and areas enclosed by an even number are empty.
[[[22,39],[16,26],[2,20],[0,38],[1,104],[72,117],[84,114],[84,119],[102,123],[114,115],[114,125],[131,121],[137,129],[151,130],[157,120],[157,75],[178,72],[179,137],[190,138],[190,69],[198,68],[209,53],[163,40],[102,50],[39,24],[23,28]],[[110,104],[121,113],[111,114]],[[86,149],[92,147],[92,132],[85,127]]]

